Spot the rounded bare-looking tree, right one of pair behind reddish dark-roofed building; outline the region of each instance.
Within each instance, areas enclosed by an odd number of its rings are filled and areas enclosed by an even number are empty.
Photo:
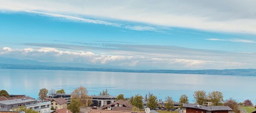
[[[219,91],[213,91],[211,93],[208,93],[208,98],[212,102],[212,104],[211,104],[212,106],[222,105],[222,103],[224,101],[223,95]]]

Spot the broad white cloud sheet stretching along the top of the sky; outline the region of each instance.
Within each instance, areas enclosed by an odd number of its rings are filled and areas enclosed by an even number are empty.
[[[126,20],[207,31],[256,34],[256,1],[0,0],[0,4],[0,9],[3,10],[52,12],[54,16],[102,24],[112,23],[62,14],[89,15],[106,20]]]

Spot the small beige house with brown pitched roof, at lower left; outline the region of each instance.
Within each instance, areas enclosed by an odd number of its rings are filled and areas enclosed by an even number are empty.
[[[55,110],[59,110],[62,108],[67,108],[67,102],[68,101],[65,100],[63,97],[60,97],[51,101],[51,105],[54,107]]]

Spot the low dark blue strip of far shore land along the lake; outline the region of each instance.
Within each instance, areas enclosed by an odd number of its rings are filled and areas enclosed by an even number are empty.
[[[99,72],[137,72],[137,73],[173,73],[173,74],[256,76],[256,69],[226,69],[226,70],[127,70],[127,69],[113,69],[113,68],[84,68],[84,67],[44,66],[44,65],[30,65],[30,64],[0,64],[0,69],[72,70],[72,71],[99,71]]]

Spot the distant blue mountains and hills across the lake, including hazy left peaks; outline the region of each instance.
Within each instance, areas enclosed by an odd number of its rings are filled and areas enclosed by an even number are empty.
[[[256,69],[232,70],[126,70],[115,69],[90,64],[72,64],[56,62],[39,62],[33,60],[19,60],[15,58],[0,57],[0,69],[24,70],[77,70],[77,71],[102,71],[102,72],[144,72],[144,73],[177,73],[177,74],[204,74],[204,75],[244,75],[256,76]]]

